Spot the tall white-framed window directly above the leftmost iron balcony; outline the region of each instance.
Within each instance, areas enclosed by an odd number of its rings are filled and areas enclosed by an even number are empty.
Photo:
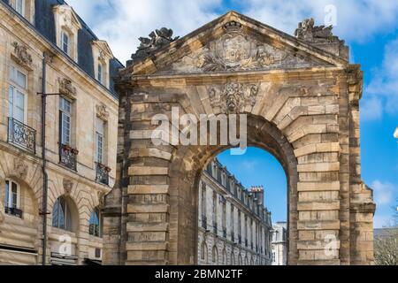
[[[8,116],[20,123],[26,122],[27,73],[15,65],[10,67],[8,91]]]

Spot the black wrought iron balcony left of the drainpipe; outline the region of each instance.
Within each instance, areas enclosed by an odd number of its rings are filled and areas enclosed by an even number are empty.
[[[19,120],[8,119],[8,142],[25,149],[33,154],[36,153],[36,130],[27,126]]]

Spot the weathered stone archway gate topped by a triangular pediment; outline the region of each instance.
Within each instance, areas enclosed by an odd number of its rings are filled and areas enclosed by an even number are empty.
[[[155,146],[151,119],[247,113],[249,143],[289,183],[290,264],[372,264],[371,189],[361,179],[362,72],[330,28],[296,36],[234,11],[174,40],[142,39],[119,73],[117,186],[104,211],[104,264],[195,264],[203,166],[222,147]]]

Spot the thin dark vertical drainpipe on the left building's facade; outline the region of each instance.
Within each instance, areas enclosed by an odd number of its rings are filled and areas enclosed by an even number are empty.
[[[46,160],[46,67],[50,60],[47,52],[43,53],[42,58],[42,265],[47,262],[47,215],[48,215],[48,180],[47,160]]]

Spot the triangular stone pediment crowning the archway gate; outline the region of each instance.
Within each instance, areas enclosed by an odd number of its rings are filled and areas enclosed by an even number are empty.
[[[231,11],[127,69],[133,74],[184,74],[347,64],[342,57]]]

